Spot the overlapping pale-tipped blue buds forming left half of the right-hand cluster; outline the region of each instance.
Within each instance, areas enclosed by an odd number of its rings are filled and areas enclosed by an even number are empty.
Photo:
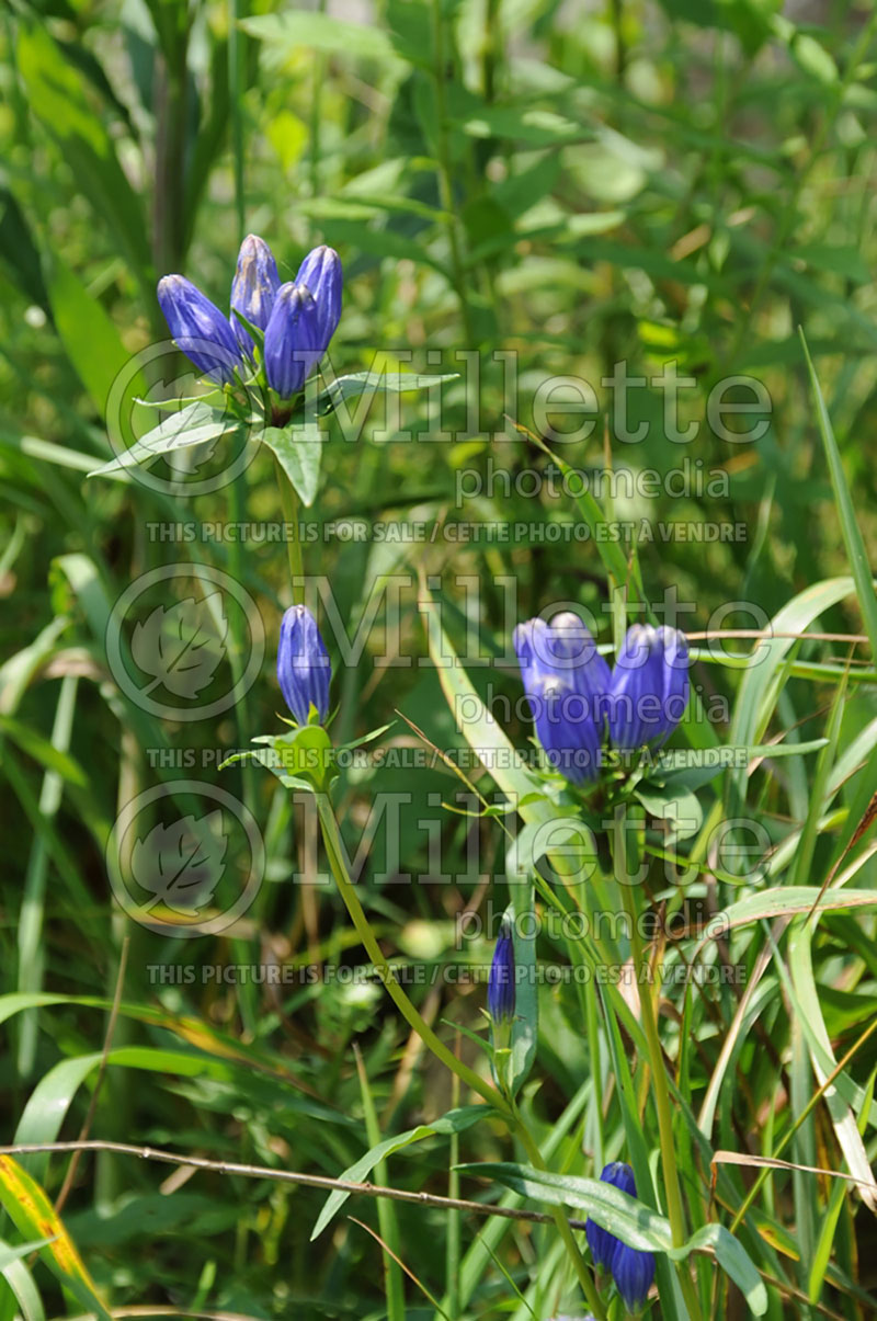
[[[598,769],[609,666],[572,612],[519,624],[514,634],[530,711],[549,764],[567,779],[593,779]]]

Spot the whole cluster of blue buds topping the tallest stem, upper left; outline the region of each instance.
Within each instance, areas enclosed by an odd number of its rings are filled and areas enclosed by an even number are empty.
[[[255,357],[239,313],[264,332],[265,379],[281,399],[291,399],[329,347],[341,317],[341,260],[333,248],[314,248],[296,279],[281,284],[271,248],[250,234],[231,281],[230,318],[182,275],[158,280],[158,303],[177,347],[218,383],[231,382]]]

